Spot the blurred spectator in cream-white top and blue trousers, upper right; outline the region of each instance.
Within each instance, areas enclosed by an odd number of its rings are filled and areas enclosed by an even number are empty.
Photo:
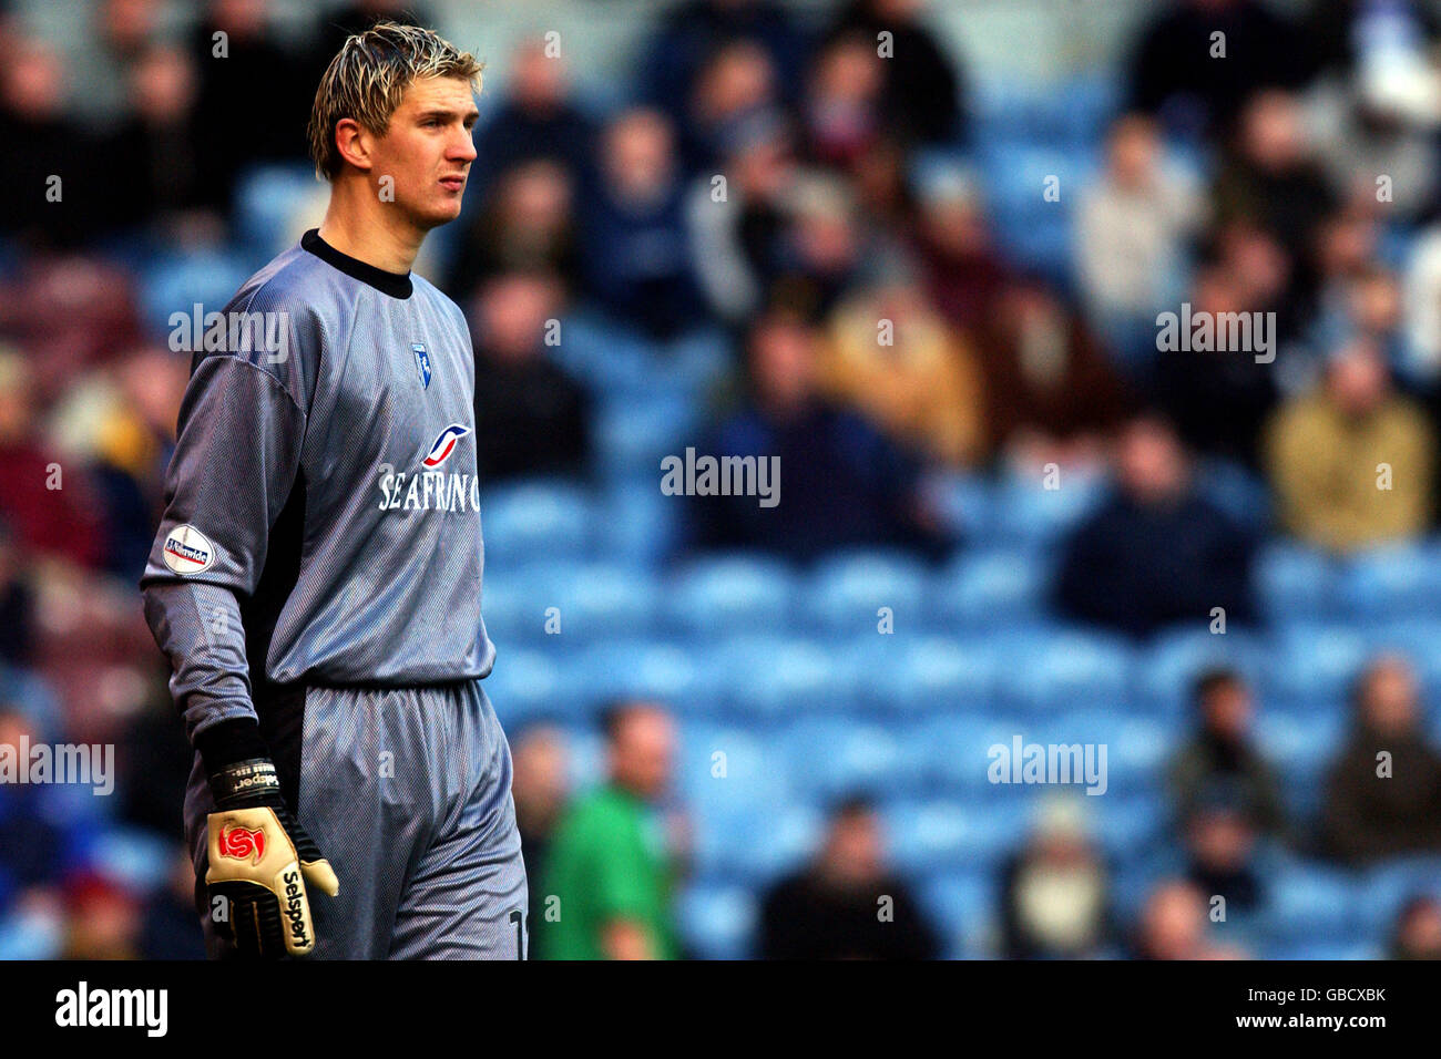
[[[1091,320],[1123,363],[1156,350],[1156,314],[1177,300],[1187,241],[1202,220],[1195,182],[1163,166],[1154,122],[1121,117],[1107,137],[1105,171],[1076,206],[1076,272]]]

